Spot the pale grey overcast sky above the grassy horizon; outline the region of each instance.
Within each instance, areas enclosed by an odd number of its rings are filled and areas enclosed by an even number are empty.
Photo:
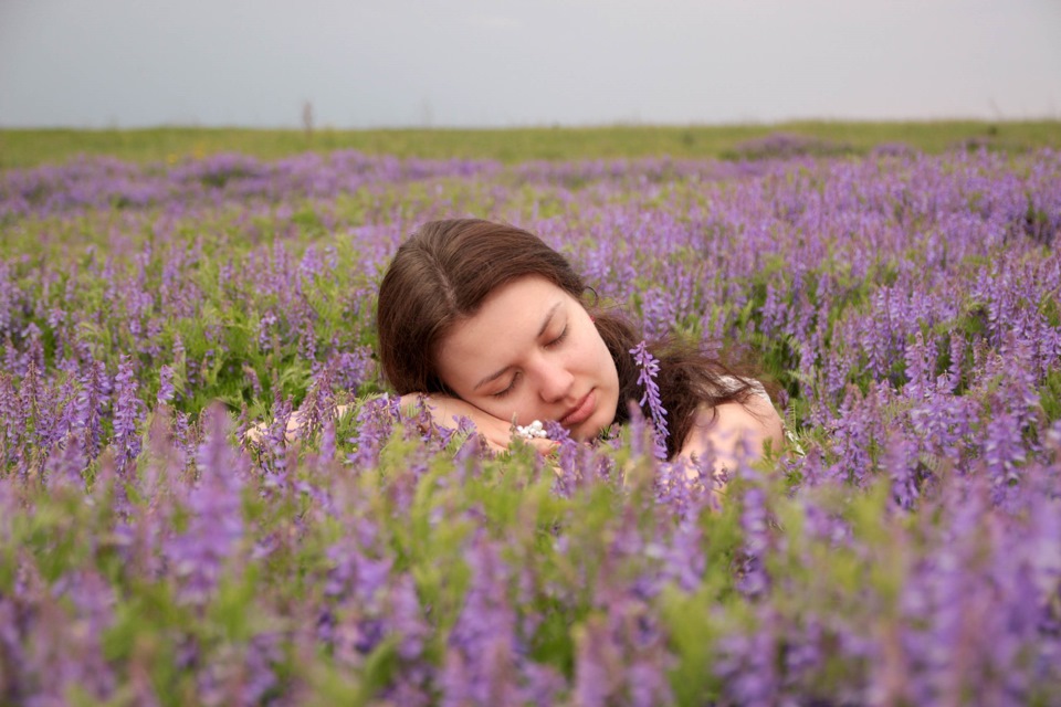
[[[1061,0],[0,0],[0,126],[1061,118]]]

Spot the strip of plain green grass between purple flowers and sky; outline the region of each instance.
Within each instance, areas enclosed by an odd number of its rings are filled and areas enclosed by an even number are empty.
[[[137,162],[175,161],[216,152],[242,152],[263,159],[338,149],[422,158],[479,158],[517,162],[529,159],[601,159],[671,156],[731,158],[742,143],[775,133],[839,144],[852,152],[903,143],[924,152],[960,145],[1025,151],[1061,149],[1061,120],[1021,123],[801,122],[729,126],[610,126],[505,129],[321,129],[248,128],[0,129],[0,169],[61,163],[80,155],[106,155]]]

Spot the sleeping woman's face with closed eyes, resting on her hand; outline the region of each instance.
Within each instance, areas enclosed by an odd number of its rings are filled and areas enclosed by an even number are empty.
[[[537,275],[491,293],[442,340],[437,363],[450,390],[502,420],[556,420],[588,440],[616,416],[608,347],[582,305]]]

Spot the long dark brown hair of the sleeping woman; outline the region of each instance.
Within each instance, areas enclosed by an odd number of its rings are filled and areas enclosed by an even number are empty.
[[[545,277],[593,315],[619,373],[616,421],[629,419],[629,401],[642,397],[630,349],[641,337],[617,309],[601,308],[566,257],[528,231],[479,219],[424,223],[395,255],[379,286],[376,326],[384,374],[399,394],[453,394],[435,368],[435,347],[460,320],[474,316],[495,288],[526,275]],[[698,347],[653,341],[656,383],[668,412],[668,456],[682,447],[702,404],[744,402],[750,384]],[[728,377],[728,378],[727,378]],[[644,410],[648,416],[648,409]]]

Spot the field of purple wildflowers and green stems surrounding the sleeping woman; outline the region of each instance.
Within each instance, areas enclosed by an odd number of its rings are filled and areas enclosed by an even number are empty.
[[[755,357],[788,446],[687,481],[644,351],[613,440],[424,439],[375,292],[456,215]],[[1049,150],[4,171],[0,703],[1061,704],[1059,233]]]

